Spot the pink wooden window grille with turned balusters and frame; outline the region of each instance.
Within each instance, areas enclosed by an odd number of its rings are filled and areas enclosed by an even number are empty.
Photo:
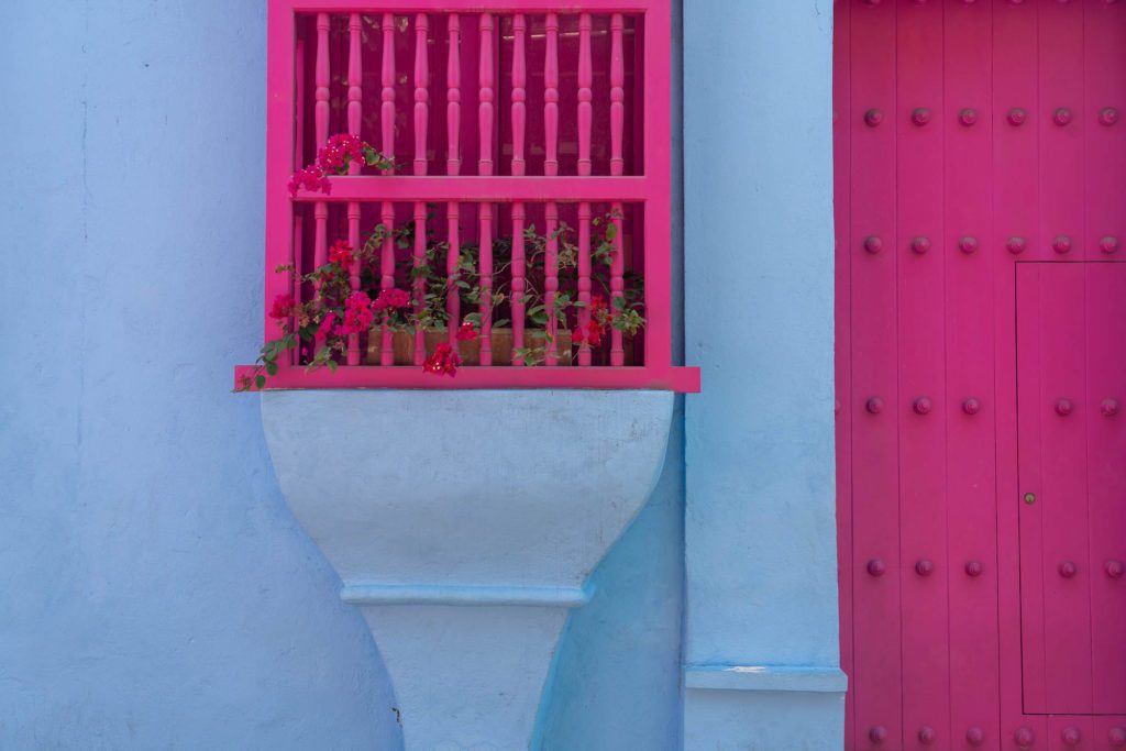
[[[366,279],[374,290],[418,296],[412,267],[440,261],[453,278],[472,248],[482,297],[494,284],[509,294],[495,310],[481,306],[480,351],[455,378],[419,366],[435,334],[457,346],[455,322],[477,310],[456,290],[445,331],[406,334],[405,360],[402,332],[352,334],[334,370],[309,370],[305,348],[267,387],[698,391],[698,369],[672,365],[670,21],[669,0],[270,0],[266,299],[309,294],[279,266],[315,268],[336,240],[359,247],[379,224],[412,232],[383,241],[377,262],[352,269],[354,286]],[[332,178],[330,195],[291,197],[289,176],[336,133],[358,135],[395,168],[354,164]],[[566,331],[588,323],[589,307],[575,306],[562,330],[555,316],[526,310],[527,231],[545,245],[534,283],[548,310],[554,294],[589,303],[605,293],[613,304],[626,279],[641,279],[631,284],[643,288],[645,325],[633,337],[611,329],[592,346]],[[593,268],[600,239],[613,252]],[[434,240],[441,259],[427,256]],[[556,276],[563,252],[577,257],[573,289]],[[493,351],[501,318],[512,343]],[[537,327],[549,336],[533,365],[516,350]],[[269,318],[266,337],[277,337]]]

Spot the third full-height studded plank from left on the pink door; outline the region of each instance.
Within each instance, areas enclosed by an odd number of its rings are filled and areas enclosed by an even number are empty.
[[[950,740],[1000,743],[991,7],[944,3]],[[1003,252],[1003,251],[1001,251]],[[1006,267],[1007,270],[1008,267]],[[981,745],[971,741],[980,739]]]

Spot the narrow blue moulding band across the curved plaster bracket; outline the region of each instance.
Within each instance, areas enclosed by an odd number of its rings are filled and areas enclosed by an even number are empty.
[[[464,605],[578,608],[590,601],[586,587],[476,587],[472,584],[350,583],[340,590],[349,605]]]

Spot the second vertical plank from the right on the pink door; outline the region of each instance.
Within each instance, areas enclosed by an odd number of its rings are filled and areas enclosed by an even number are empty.
[[[1040,3],[1037,19],[1038,53],[1038,109],[1039,131],[1039,247],[1035,257],[1069,259],[1082,257],[1083,249],[1083,124],[1088,117],[1083,102],[1083,7],[1082,3]],[[1055,268],[1055,267],[1053,267]],[[1091,694],[1091,611],[1090,585],[1092,572],[1087,565],[1089,549],[1088,486],[1087,486],[1087,430],[1089,404],[1085,392],[1085,367],[1056,370],[1058,357],[1083,360],[1085,277],[1081,268],[1066,274],[1065,299],[1052,288],[1042,301],[1046,306],[1062,302],[1069,307],[1067,339],[1054,342],[1045,339],[1045,387],[1056,384],[1070,394],[1048,395],[1054,401],[1069,397],[1074,401],[1075,413],[1066,419],[1046,419],[1042,433],[1044,445],[1043,521],[1045,543],[1045,671],[1049,709],[1056,712],[1089,713],[1093,705]],[[1044,275],[1054,280],[1055,274]],[[1047,307],[1045,307],[1045,312]],[[1045,327],[1064,324],[1064,321],[1045,321]],[[1018,322],[1018,325],[1020,323]],[[1045,329],[1045,336],[1046,336]],[[1022,374],[1020,374],[1022,375]],[[1020,377],[1018,375],[1018,378]],[[1063,381],[1056,382],[1057,377]],[[1066,386],[1064,386],[1066,384]],[[1018,381],[1018,388],[1019,388]],[[1060,432],[1063,428],[1064,432]],[[1052,448],[1056,439],[1063,454]],[[1057,470],[1052,464],[1066,457]],[[1056,485],[1061,481],[1063,485]],[[1060,489],[1058,492],[1056,489]],[[1071,579],[1061,575],[1061,566],[1070,561],[1078,573]],[[1030,592],[1022,591],[1026,597]],[[1027,646],[1027,643],[1026,643]],[[1026,712],[1027,712],[1026,707]],[[1066,727],[1078,727],[1090,734],[1090,719],[1049,718],[1049,743],[1057,740]]]

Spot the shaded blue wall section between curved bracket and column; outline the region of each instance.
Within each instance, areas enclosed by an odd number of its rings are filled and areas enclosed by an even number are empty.
[[[649,503],[573,610],[540,707],[544,751],[680,748],[683,397]]]

